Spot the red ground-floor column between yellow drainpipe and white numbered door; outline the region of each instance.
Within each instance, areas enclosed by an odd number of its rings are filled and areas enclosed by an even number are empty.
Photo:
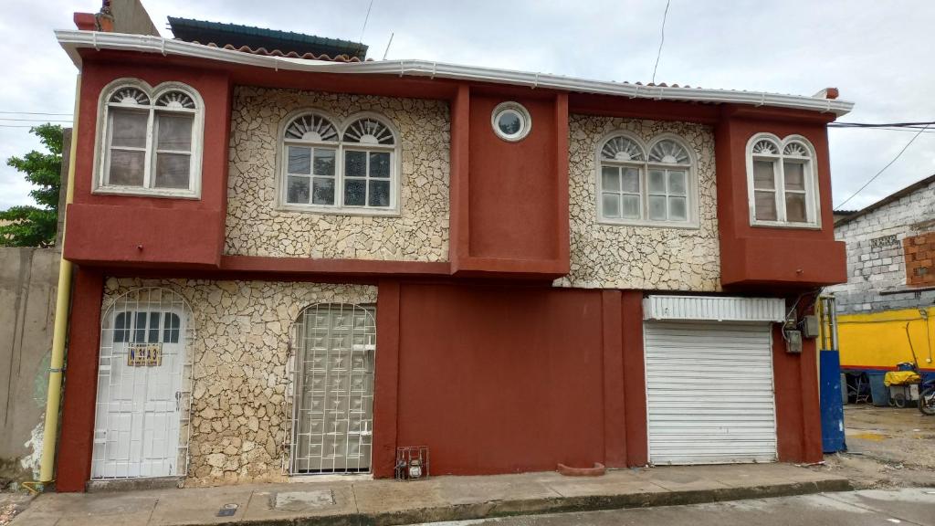
[[[84,491],[91,477],[103,296],[103,276],[78,267],[72,288],[65,356],[65,405],[58,445],[57,491]]]

